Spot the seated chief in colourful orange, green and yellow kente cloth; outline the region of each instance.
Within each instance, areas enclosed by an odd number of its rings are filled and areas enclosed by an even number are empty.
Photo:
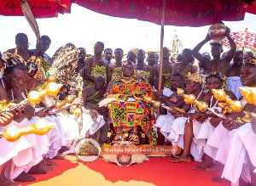
[[[154,89],[134,73],[133,65],[133,62],[125,61],[122,76],[108,84],[108,99],[118,99],[109,106],[109,117],[116,132],[113,142],[128,139],[133,144],[140,144],[137,132],[141,127],[149,143],[156,144],[154,108],[151,103],[143,102],[143,98],[154,99]]]

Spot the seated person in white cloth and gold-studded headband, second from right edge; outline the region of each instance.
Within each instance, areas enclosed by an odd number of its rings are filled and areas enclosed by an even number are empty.
[[[225,87],[225,76],[216,71],[207,75],[207,89],[208,92],[204,95],[202,101],[209,105],[209,108],[221,111],[217,106],[218,100],[213,97],[212,89],[222,89]],[[230,99],[236,99],[234,93],[225,91]],[[204,154],[204,148],[207,143],[207,138],[209,138],[214,131],[214,128],[218,125],[220,119],[209,113],[201,113],[196,111],[194,114],[190,114],[189,118],[185,121],[184,127],[179,127],[181,123],[172,125],[172,132],[170,133],[170,138],[172,133],[180,133],[180,137],[176,138],[173,142],[177,141],[177,145],[183,148],[183,154],[172,162],[191,162],[192,159],[190,154],[194,156],[195,161],[201,161],[201,157]],[[175,130],[183,130],[177,131]],[[183,129],[181,129],[183,128]],[[200,167],[195,167],[200,169]]]

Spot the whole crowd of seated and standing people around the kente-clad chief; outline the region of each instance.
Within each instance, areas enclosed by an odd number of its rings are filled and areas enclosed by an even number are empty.
[[[31,174],[55,171],[55,163],[49,160],[64,159],[62,155],[73,153],[76,141],[85,137],[96,138],[100,144],[130,141],[177,145],[183,151],[172,163],[194,159],[201,162],[195,170],[223,171],[222,177],[212,178],[213,181],[256,185],[256,123],[238,120],[247,112],[255,112],[255,105],[242,98],[239,87],[256,87],[256,59],[251,52],[236,50],[229,29],[225,35],[230,42],[228,52],[224,52],[221,43],[211,43],[211,55],[201,54],[201,47],[210,41],[208,35],[194,49],[183,49],[182,54],[171,55],[169,48],[163,48],[162,74],[160,56],[154,52],[146,56],[143,49],[132,49],[124,60],[122,48],[104,49],[103,42],[96,42],[94,55],[86,58],[86,49],[79,48],[76,72],[83,77],[82,94],[79,96],[79,82],[73,78],[63,86],[58,98],[65,100],[74,95],[72,104],[57,109],[56,98],[45,96],[40,104],[1,114],[1,132],[9,125],[26,127],[41,118],[56,123],[56,127],[45,135],[28,134],[15,142],[0,139],[0,185],[18,185],[14,180],[32,182],[35,178]],[[47,76],[53,63],[46,54],[50,43],[49,37],[42,36],[37,48],[31,50],[26,34],[16,35],[16,48],[0,58],[4,69],[1,101],[18,104],[42,85],[44,80],[35,73],[41,68]],[[75,48],[72,43],[65,47]],[[42,61],[35,73],[28,68],[33,56]],[[228,114],[226,119],[211,111],[202,112],[195,104],[185,103],[177,93],[179,88],[218,114],[223,113],[218,106],[223,101],[213,96],[212,89],[222,89],[230,99],[240,100],[243,110]],[[157,116],[158,108],[148,98],[170,109],[160,107]],[[73,114],[76,105],[83,105],[82,127]]]

